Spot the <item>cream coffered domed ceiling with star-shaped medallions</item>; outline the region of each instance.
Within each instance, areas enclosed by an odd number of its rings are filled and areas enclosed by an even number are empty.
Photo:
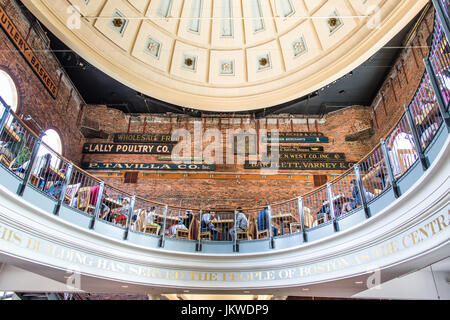
[[[66,45],[148,96],[244,111],[363,63],[427,0],[22,0]]]

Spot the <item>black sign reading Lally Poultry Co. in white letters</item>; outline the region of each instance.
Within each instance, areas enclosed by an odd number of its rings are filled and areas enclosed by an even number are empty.
[[[85,143],[83,153],[109,154],[171,154],[172,144],[121,144],[121,143]]]

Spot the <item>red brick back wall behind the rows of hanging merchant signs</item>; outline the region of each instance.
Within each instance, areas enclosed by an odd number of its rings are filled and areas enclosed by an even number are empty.
[[[245,117],[245,116],[244,116]],[[99,121],[101,119],[101,121]],[[329,113],[322,119],[307,119],[279,115],[273,118],[255,120],[250,117],[242,118],[204,118],[196,119],[205,125],[206,129],[220,128],[223,136],[227,129],[243,130],[257,128],[279,129],[280,131],[318,131],[329,137],[329,143],[322,145],[325,152],[343,152],[348,161],[357,161],[367,154],[372,145],[367,139],[346,141],[349,133],[357,133],[371,128],[371,114],[368,107],[353,106]],[[175,129],[187,129],[194,134],[194,119],[183,115],[134,115],[129,116],[121,111],[108,109],[106,106],[86,107],[82,126],[103,132],[107,139],[87,139],[87,142],[113,142],[113,133],[170,133]],[[208,143],[204,143],[206,146]],[[303,144],[308,145],[308,144]],[[312,144],[309,144],[312,145]],[[231,145],[224,146],[231,149]],[[224,157],[225,157],[224,151]],[[157,155],[114,155],[114,154],[85,154],[86,162],[131,162],[131,163],[158,163]],[[167,161],[164,161],[167,162]],[[124,184],[123,175],[116,173],[109,176],[99,174],[101,179],[116,188],[148,199],[183,206],[254,206],[255,203],[266,204],[287,199],[293,199],[314,189],[313,175],[338,175],[343,171],[285,171],[280,170],[283,176],[267,176],[261,178],[259,170],[244,169],[242,164],[216,165],[216,171],[233,174],[256,173],[254,177],[244,178],[198,178],[195,173],[189,173],[176,178],[168,178],[165,172],[161,177],[138,176],[137,184]],[[288,178],[287,172],[301,174],[300,178]]]

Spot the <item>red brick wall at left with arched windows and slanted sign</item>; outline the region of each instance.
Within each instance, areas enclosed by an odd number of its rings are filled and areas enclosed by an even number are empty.
[[[60,83],[58,95],[56,99],[53,99],[4,30],[0,28],[0,68],[11,75],[19,91],[17,113],[23,117],[31,115],[44,131],[46,129],[56,130],[62,140],[63,156],[79,163],[83,136],[74,119],[77,119],[84,102],[65,75],[60,81],[62,68],[53,54],[47,50],[45,36],[42,37],[39,32],[36,32],[38,28],[30,28],[30,22],[21,12],[17,2],[0,0],[0,4],[22,37],[27,39],[28,45],[33,49],[53,81],[57,85]]]

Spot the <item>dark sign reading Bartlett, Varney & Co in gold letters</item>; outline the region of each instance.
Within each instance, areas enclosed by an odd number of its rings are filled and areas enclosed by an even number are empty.
[[[260,162],[244,163],[245,169],[274,169],[274,170],[348,170],[353,168],[355,162],[331,162],[331,161],[288,161],[262,164]],[[273,165],[273,167],[271,167]]]

